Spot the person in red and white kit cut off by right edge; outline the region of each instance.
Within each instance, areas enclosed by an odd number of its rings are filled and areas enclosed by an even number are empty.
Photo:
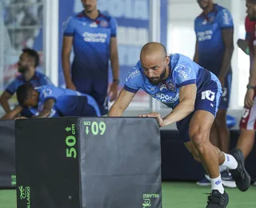
[[[237,148],[242,150],[245,158],[254,146],[256,130],[256,0],[247,0],[246,7],[248,14],[248,18],[246,18],[246,41],[250,54],[250,78],[240,121],[241,133],[237,144]]]

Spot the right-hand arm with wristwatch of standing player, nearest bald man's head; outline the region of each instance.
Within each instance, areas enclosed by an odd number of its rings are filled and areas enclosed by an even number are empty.
[[[110,25],[111,25],[110,62],[111,62],[111,69],[113,74],[113,82],[110,86],[109,96],[110,96],[110,102],[112,102],[118,96],[118,84],[119,84],[117,22],[115,21],[114,18],[111,18]]]

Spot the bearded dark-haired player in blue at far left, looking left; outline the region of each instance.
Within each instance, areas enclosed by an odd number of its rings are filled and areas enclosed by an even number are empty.
[[[39,64],[39,56],[35,50],[24,49],[18,60],[18,72],[21,73],[18,77],[14,78],[12,82],[6,87],[0,98],[1,105],[6,111],[6,114],[2,119],[10,119],[9,115],[22,112],[22,116],[30,117],[29,110],[23,109],[21,106],[16,106],[14,110],[10,110],[8,100],[14,95],[18,86],[25,83],[31,83],[33,86],[53,85],[50,78],[47,78],[45,74],[36,70]]]

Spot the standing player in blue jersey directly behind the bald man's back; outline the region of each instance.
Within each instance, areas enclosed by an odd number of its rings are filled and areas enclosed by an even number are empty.
[[[222,84],[222,97],[218,106],[214,125],[210,132],[210,141],[220,150],[229,152],[230,132],[226,125],[226,111],[230,103],[232,80],[231,58],[234,50],[234,23],[229,10],[214,4],[213,0],[198,0],[203,12],[194,21],[196,49],[194,62],[214,73]],[[220,167],[224,186],[235,187],[235,182],[225,167]],[[206,178],[209,178],[206,175]],[[198,185],[210,185],[208,179],[197,182]]]

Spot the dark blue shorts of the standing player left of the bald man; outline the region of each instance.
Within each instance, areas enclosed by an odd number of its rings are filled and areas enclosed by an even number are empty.
[[[89,94],[98,103],[98,107],[102,115],[108,114],[108,80],[106,79],[82,79],[73,80],[74,86],[77,88],[78,92],[83,94]]]

